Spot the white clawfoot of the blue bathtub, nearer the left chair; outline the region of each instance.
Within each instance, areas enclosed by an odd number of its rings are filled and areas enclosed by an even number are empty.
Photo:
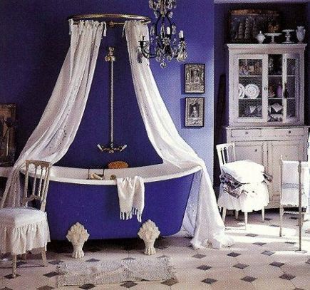
[[[73,245],[72,257],[79,259],[84,257],[83,245],[88,240],[89,234],[82,224],[77,222],[69,229],[66,238]]]

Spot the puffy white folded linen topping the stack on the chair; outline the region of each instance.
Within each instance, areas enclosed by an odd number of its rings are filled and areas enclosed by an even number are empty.
[[[239,160],[222,165],[222,170],[240,183],[264,181],[264,166],[252,160]]]

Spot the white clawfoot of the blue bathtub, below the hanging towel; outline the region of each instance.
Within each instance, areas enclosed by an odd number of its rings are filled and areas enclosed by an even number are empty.
[[[150,219],[148,219],[142,225],[142,227],[140,227],[138,236],[140,237],[140,239],[143,239],[145,243],[144,254],[150,256],[156,253],[154,243],[155,243],[155,239],[157,239],[159,235],[160,235],[160,231],[158,227],[156,227],[155,222],[152,222]]]

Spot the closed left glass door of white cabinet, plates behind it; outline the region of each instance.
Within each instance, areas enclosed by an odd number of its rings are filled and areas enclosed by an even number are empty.
[[[264,122],[264,98],[267,90],[267,56],[239,55],[235,71],[235,118],[238,122]]]

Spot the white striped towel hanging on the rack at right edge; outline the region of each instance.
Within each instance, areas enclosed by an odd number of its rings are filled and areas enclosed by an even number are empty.
[[[298,161],[283,161],[281,204],[299,205],[299,172]],[[308,205],[309,167],[308,162],[301,162],[301,206]]]

